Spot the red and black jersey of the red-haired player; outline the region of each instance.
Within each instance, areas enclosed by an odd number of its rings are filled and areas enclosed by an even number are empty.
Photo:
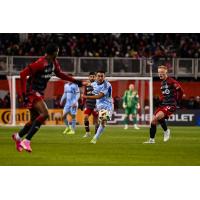
[[[161,82],[161,105],[176,106],[177,103],[182,99],[183,89],[181,85],[173,78],[167,77],[166,80]]]

